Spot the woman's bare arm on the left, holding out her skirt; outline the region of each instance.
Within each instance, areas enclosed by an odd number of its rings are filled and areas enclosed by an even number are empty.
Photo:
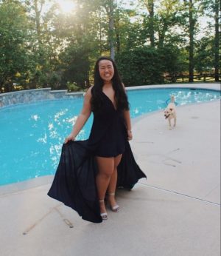
[[[85,93],[83,109],[81,110],[80,115],[78,115],[70,135],[66,137],[65,143],[67,143],[68,141],[75,140],[78,133],[85,125],[86,121],[88,121],[88,118],[90,117],[90,115],[91,115],[91,87]]]

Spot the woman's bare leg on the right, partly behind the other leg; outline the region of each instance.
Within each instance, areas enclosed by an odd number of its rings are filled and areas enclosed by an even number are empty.
[[[111,175],[111,180],[108,185],[108,201],[111,204],[111,207],[116,206],[116,200],[115,200],[115,191],[116,191],[116,181],[117,181],[117,166],[119,165],[120,161],[122,159],[122,155],[117,155],[114,158],[114,169],[113,174]],[[112,195],[110,195],[112,194]]]

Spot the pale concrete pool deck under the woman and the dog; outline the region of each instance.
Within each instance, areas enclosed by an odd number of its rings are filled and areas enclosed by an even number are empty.
[[[220,256],[220,101],[177,112],[172,130],[162,111],[133,121],[147,181],[118,190],[103,223],[49,198],[51,176],[0,186],[0,255]]]

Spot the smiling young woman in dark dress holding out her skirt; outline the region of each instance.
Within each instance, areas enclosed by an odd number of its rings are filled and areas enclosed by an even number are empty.
[[[75,141],[91,112],[88,140]],[[132,138],[129,104],[116,64],[101,57],[94,67],[94,86],[86,92],[83,110],[65,139],[49,196],[95,223],[108,219],[105,199],[119,212],[116,186],[131,189],[146,177],[133,158],[128,143]]]

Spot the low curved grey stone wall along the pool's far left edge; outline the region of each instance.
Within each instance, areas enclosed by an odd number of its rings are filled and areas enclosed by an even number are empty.
[[[77,98],[83,96],[83,92],[71,92],[67,90],[55,90],[51,88],[22,90],[0,94],[0,108],[15,104],[28,104],[36,101],[48,101],[61,98]]]

